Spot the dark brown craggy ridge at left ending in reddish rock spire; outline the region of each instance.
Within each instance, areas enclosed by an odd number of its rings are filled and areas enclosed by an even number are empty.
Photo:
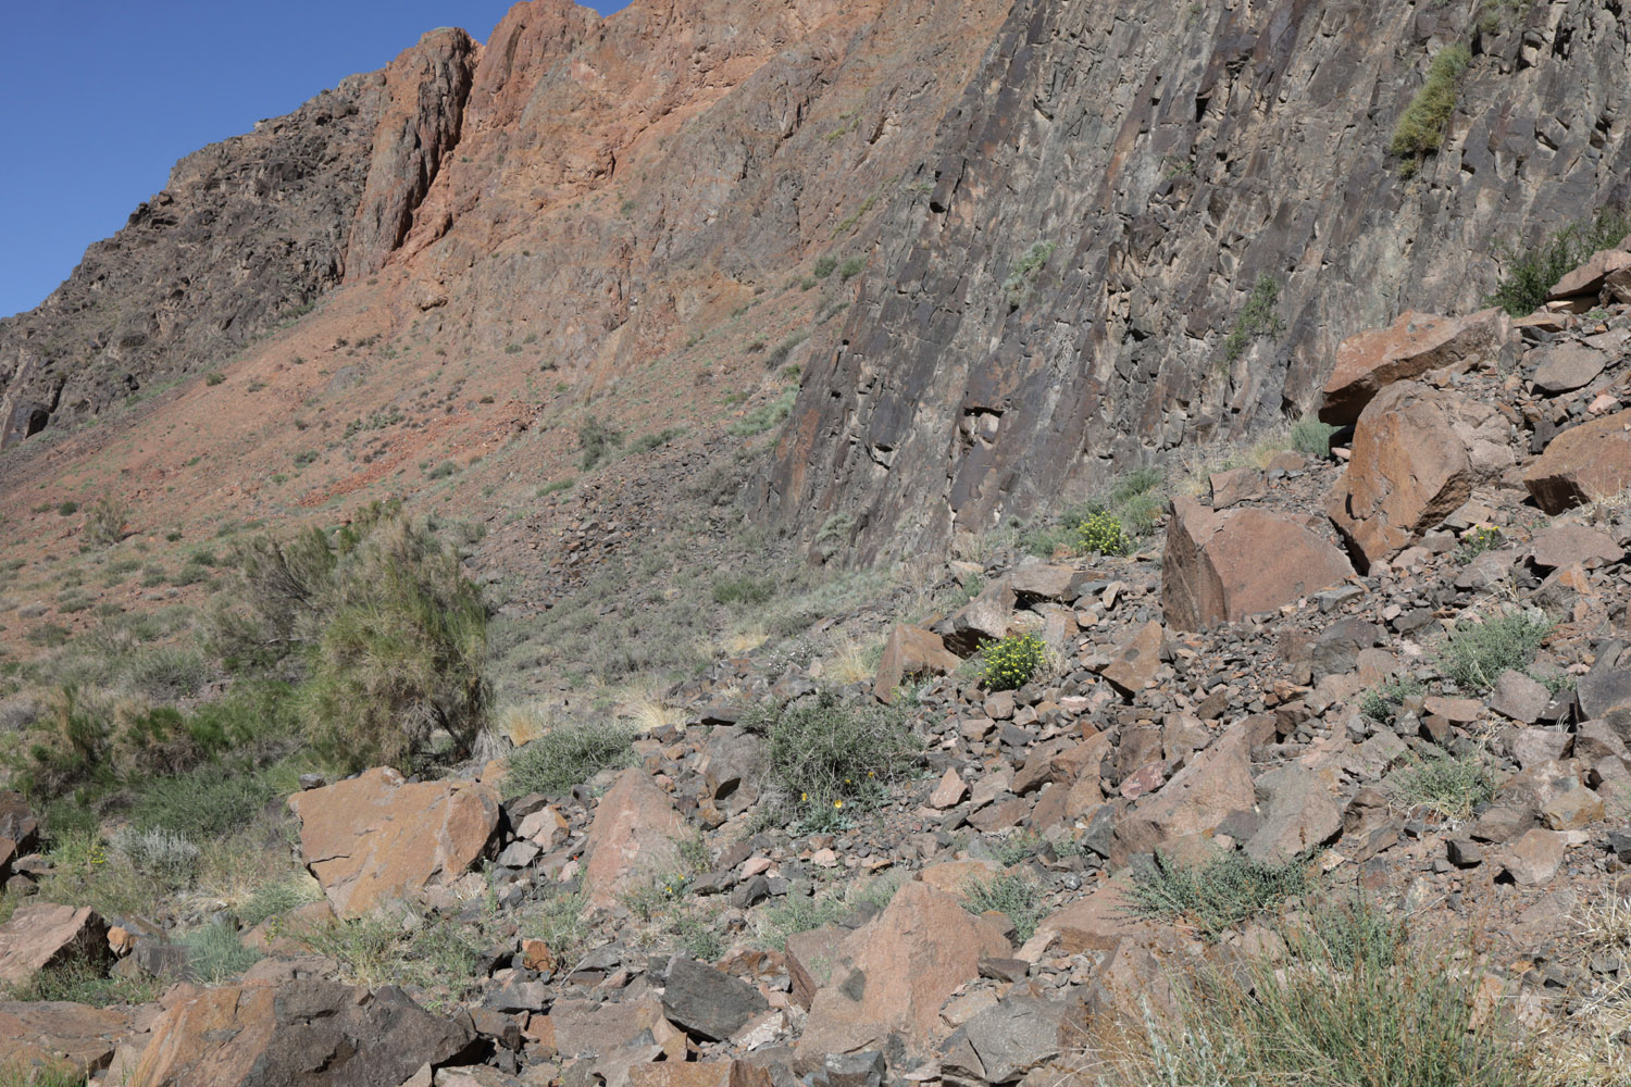
[[[471,49],[427,34],[385,72],[176,163],[44,303],[0,321],[0,443],[220,365],[347,267],[378,267],[458,139]]]

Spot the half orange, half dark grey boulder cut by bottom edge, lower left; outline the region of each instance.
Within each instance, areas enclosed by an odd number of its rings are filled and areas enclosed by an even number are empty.
[[[468,1020],[432,1015],[406,992],[334,981],[178,986],[135,1064],[132,1087],[398,1087],[460,1059]]]

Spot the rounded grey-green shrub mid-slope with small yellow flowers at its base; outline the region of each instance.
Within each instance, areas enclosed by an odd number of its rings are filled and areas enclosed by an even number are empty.
[[[830,820],[876,800],[922,750],[902,711],[851,702],[822,689],[789,706],[767,706],[744,722],[763,732],[781,807]]]

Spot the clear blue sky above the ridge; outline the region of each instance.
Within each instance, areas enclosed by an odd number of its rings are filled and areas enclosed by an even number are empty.
[[[602,13],[621,2],[597,0]],[[31,310],[206,143],[383,67],[427,29],[478,39],[511,0],[39,0],[0,65],[0,316]]]

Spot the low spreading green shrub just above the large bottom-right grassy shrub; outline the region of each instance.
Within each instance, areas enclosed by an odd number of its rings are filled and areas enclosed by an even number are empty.
[[[1160,852],[1137,865],[1127,895],[1135,913],[1161,921],[1186,919],[1207,940],[1292,895],[1310,890],[1302,857],[1262,864],[1231,851],[1202,867],[1168,860]]]

